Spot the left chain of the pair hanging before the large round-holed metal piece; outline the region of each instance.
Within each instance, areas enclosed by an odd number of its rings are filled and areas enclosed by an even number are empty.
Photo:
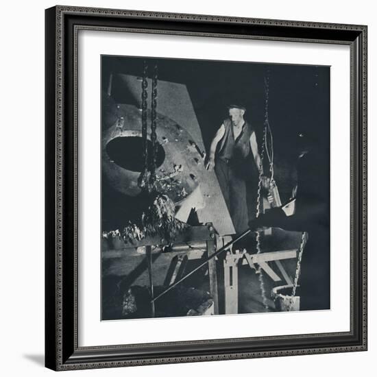
[[[143,139],[143,171],[138,177],[138,186],[143,189],[147,184],[148,175],[148,104],[147,104],[147,71],[148,64],[144,61],[143,81],[141,82],[141,138]]]

